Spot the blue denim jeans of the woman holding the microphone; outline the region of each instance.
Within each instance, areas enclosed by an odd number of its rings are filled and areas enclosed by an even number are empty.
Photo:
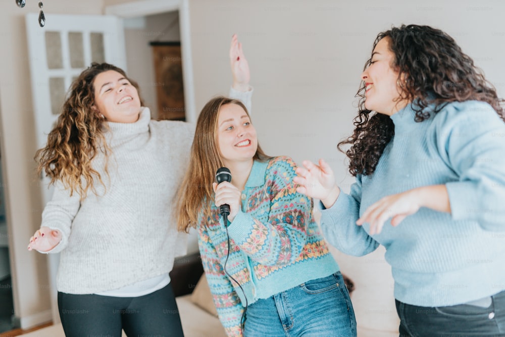
[[[355,337],[356,318],[340,272],[251,304],[245,337]]]

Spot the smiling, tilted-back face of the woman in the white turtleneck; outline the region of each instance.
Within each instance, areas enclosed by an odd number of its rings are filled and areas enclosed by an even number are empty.
[[[123,75],[108,70],[93,81],[94,108],[109,122],[133,123],[138,120],[140,99],[137,89]]]

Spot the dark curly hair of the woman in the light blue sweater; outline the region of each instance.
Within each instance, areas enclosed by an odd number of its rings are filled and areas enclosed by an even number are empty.
[[[383,38],[388,38],[394,54],[392,68],[398,70],[399,100],[415,100],[412,108],[415,121],[422,122],[439,112],[450,102],[476,100],[493,107],[505,121],[503,100],[473,60],[464,54],[456,41],[439,29],[430,26],[401,25],[377,35],[373,50]],[[372,61],[366,64],[367,69]],[[349,173],[370,175],[394,135],[391,118],[365,108],[365,82],[362,81],[358,116],[354,119],[354,133],[338,143],[338,149],[350,160]],[[426,109],[433,105],[433,109]],[[351,147],[344,152],[343,147]]]

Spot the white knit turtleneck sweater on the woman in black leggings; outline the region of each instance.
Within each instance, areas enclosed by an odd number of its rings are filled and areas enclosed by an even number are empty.
[[[112,155],[109,177],[104,155],[93,167],[107,191],[95,184],[80,202],[61,184],[42,213],[41,226],[59,229],[63,239],[58,291],[103,293],[168,274],[174,257],[185,254],[186,234],[178,233],[174,198],[187,167],[194,126],[154,121],[143,108],[135,123],[109,122]]]

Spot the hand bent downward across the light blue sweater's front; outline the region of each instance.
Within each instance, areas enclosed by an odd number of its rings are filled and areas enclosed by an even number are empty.
[[[379,234],[387,219],[392,218],[391,225],[397,226],[407,216],[416,213],[420,207],[420,197],[417,190],[410,189],[384,197],[370,205],[356,221],[356,224],[361,226],[368,222],[370,223],[370,235]]]

